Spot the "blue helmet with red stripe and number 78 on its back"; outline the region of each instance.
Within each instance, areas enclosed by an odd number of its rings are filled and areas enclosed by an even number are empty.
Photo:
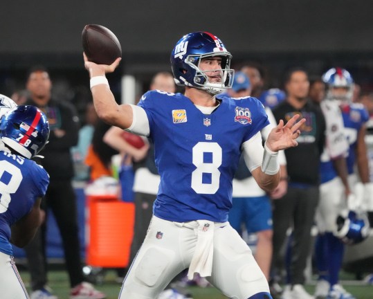
[[[48,137],[48,120],[34,106],[17,106],[1,119],[1,141],[26,158],[38,154],[46,145]]]

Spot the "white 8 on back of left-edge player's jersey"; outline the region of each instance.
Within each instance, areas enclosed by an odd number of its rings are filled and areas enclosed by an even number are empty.
[[[8,210],[10,200],[12,199],[10,194],[17,192],[23,179],[21,170],[19,170],[17,166],[3,160],[0,161],[0,178],[5,171],[8,172],[11,177],[7,184],[0,181],[0,213]]]

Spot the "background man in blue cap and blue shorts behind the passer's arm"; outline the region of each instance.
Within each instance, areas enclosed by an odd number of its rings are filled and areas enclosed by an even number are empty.
[[[232,98],[248,97],[251,93],[251,84],[248,77],[243,72],[235,73],[232,88],[227,91]],[[218,96],[219,98],[219,96]],[[269,108],[266,108],[270,125],[262,129],[262,138],[266,140],[269,132],[276,127],[275,118]],[[281,175],[286,178],[286,163],[284,152],[279,156]],[[274,192],[277,197],[282,197],[286,192],[287,181],[282,180]],[[276,196],[275,195],[275,196]],[[242,235],[242,224],[245,224],[248,233],[255,233],[257,236],[257,246],[255,260],[262,269],[267,280],[271,268],[272,258],[272,208],[271,199],[257,185],[251,172],[246,167],[244,156],[239,159],[239,165],[233,179],[233,206],[229,211],[228,221],[230,225]]]

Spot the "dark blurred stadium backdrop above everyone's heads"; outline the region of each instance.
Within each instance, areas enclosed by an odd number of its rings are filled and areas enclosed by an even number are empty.
[[[269,87],[281,87],[291,66],[317,76],[338,65],[363,90],[373,91],[372,11],[370,0],[7,1],[0,10],[0,93],[23,89],[30,66],[43,64],[51,71],[55,96],[82,114],[89,99],[81,46],[85,24],[107,26],[122,44],[122,63],[109,80],[123,101],[145,91],[156,71],[170,70],[176,41],[197,30],[219,36],[233,54],[233,66],[262,64]],[[133,93],[121,92],[124,78],[133,83]],[[362,288],[372,295],[361,298],[373,298],[372,288]]]

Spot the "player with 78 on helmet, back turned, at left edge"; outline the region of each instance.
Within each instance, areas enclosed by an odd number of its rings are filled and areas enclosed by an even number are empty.
[[[12,246],[24,247],[42,222],[40,201],[49,176],[30,160],[49,136],[44,114],[18,106],[0,119],[0,290],[1,298],[29,298],[12,257]]]

